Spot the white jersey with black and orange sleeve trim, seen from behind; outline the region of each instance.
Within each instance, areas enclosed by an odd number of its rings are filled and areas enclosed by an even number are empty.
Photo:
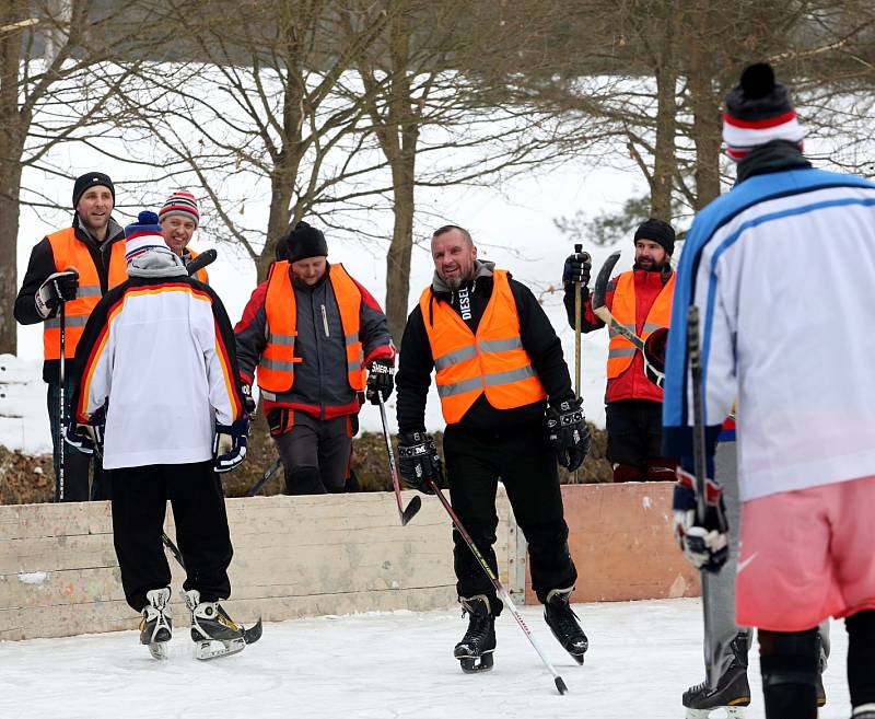
[[[103,298],[78,348],[74,411],[86,421],[108,398],[105,468],[212,457],[215,422],[242,416],[233,337],[219,298],[187,277],[132,278]]]

